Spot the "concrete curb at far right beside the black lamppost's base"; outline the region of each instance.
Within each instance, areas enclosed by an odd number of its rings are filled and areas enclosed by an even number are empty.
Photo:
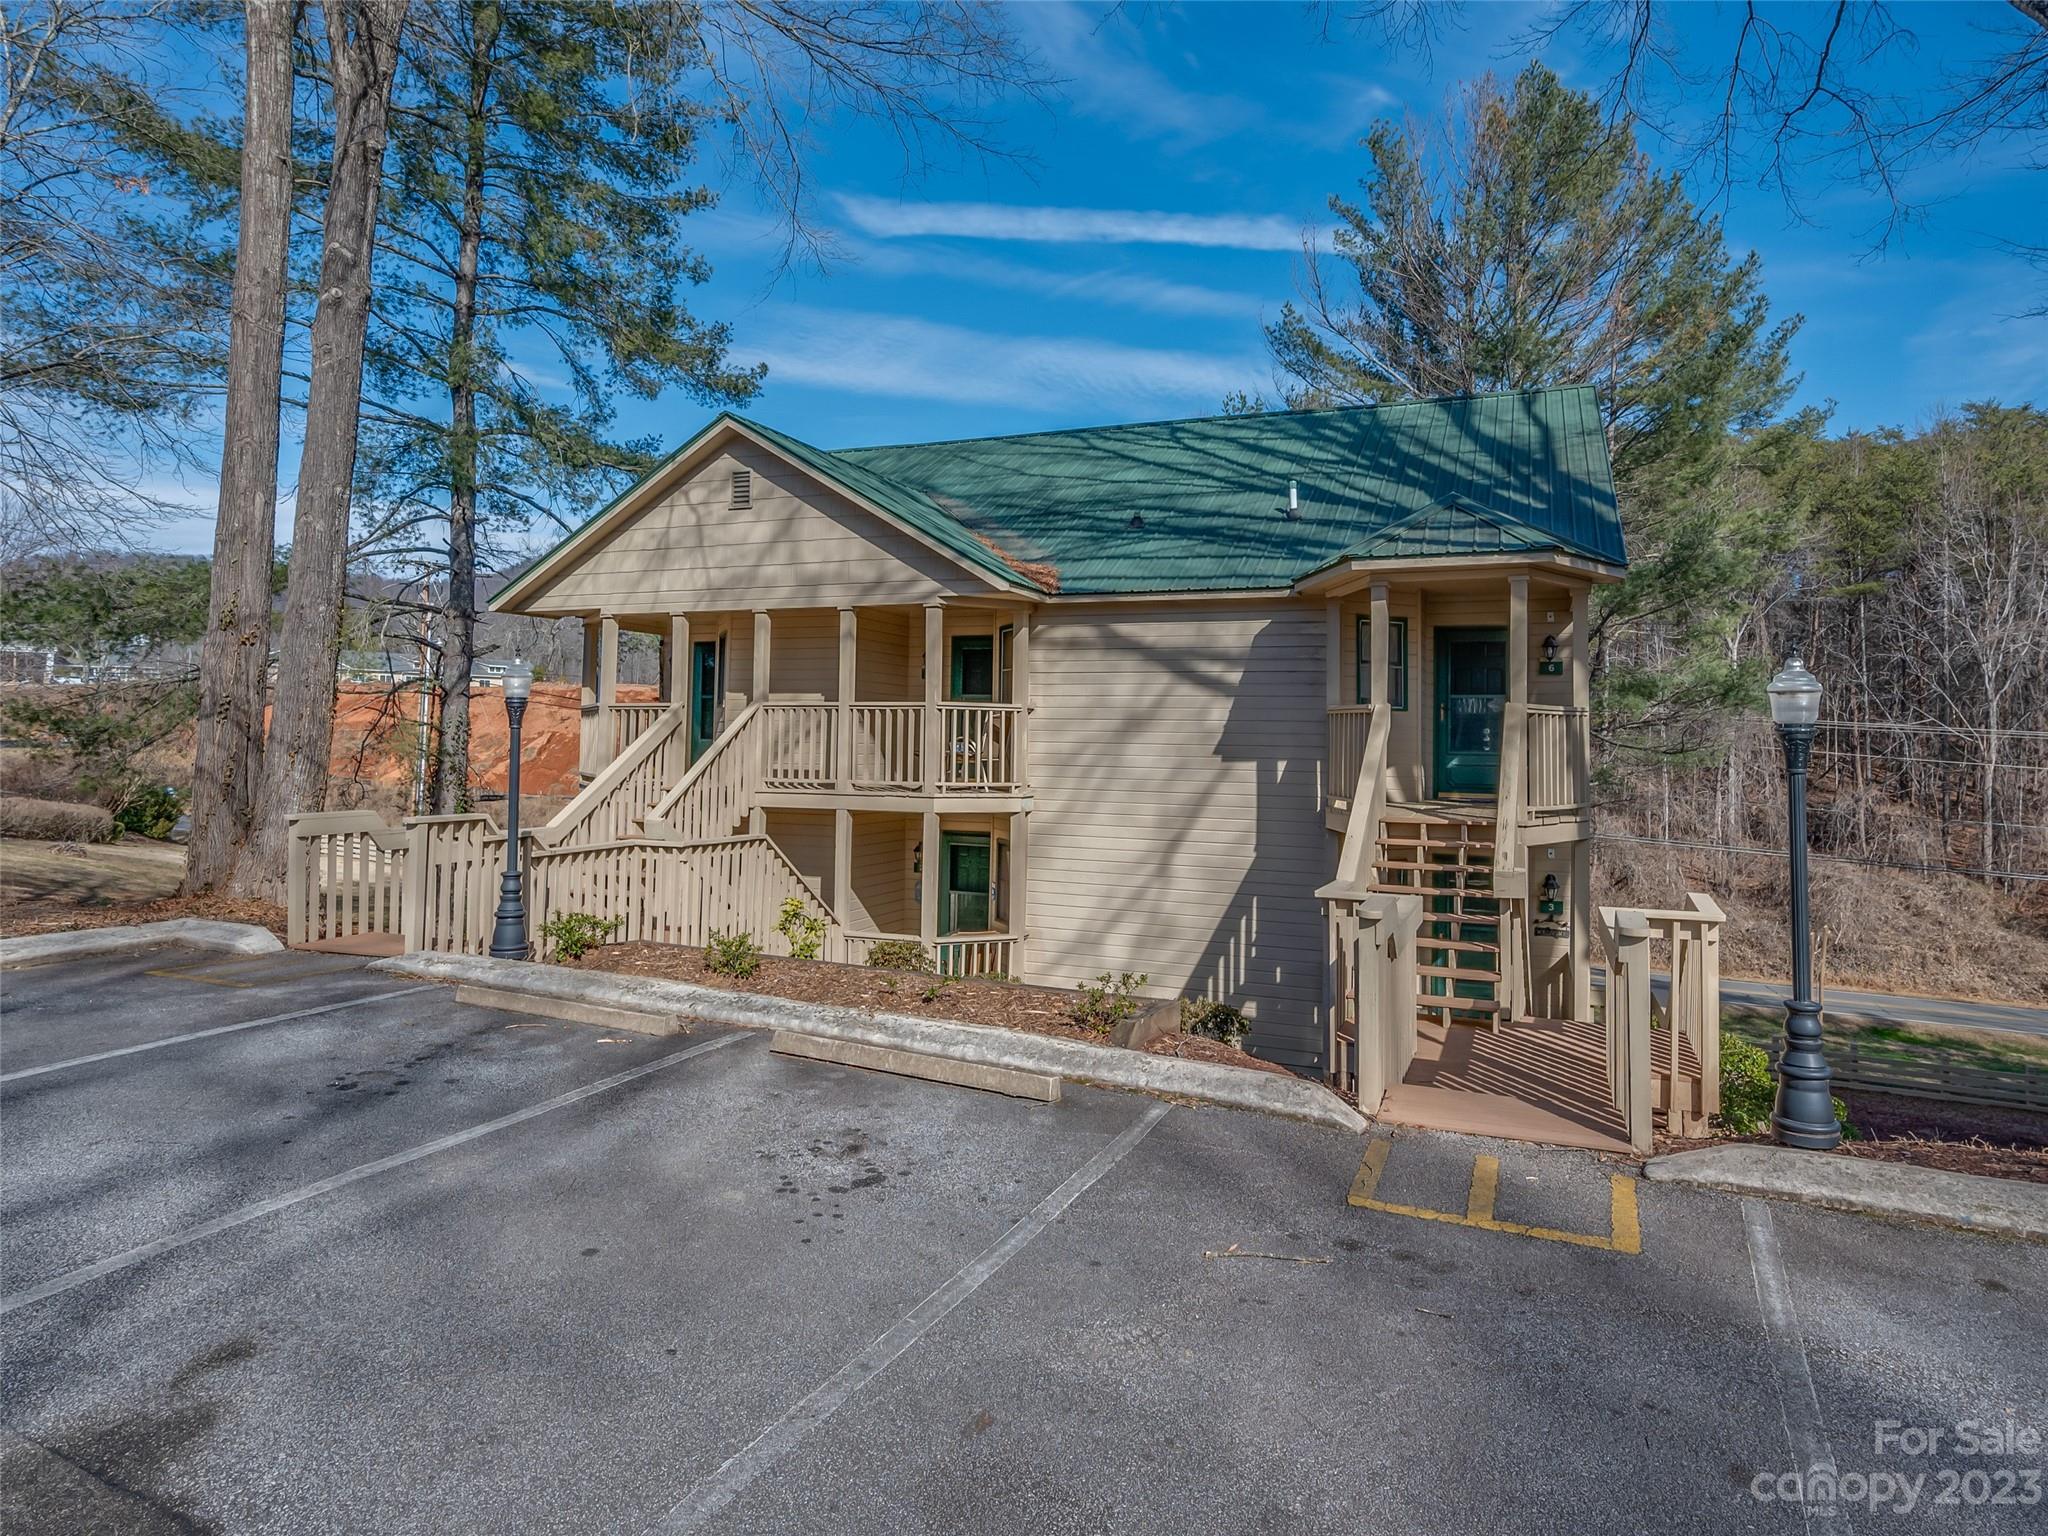
[[[1653,1184],[1690,1184],[1729,1194],[1802,1200],[1829,1210],[1896,1217],[2048,1243],[2048,1184],[1946,1174],[1937,1167],[1835,1157],[1792,1147],[1702,1147],[1651,1157],[1642,1176]]]

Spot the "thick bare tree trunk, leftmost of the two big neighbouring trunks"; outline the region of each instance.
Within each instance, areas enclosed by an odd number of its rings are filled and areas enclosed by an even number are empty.
[[[285,258],[291,244],[293,6],[250,0],[244,29],[242,225],[236,231],[213,590],[207,633],[199,643],[199,745],[186,891],[209,891],[227,879],[250,836],[270,668]]]

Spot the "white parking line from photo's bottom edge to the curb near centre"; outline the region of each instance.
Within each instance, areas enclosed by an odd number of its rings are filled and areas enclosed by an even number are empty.
[[[881,1376],[889,1368],[889,1362],[930,1333],[946,1313],[973,1296],[1030,1239],[1051,1227],[1059,1219],[1059,1212],[1079,1200],[1096,1180],[1124,1159],[1124,1153],[1145,1141],[1169,1108],[1169,1104],[1147,1108],[1116,1141],[1090,1157],[1065,1184],[1032,1206],[1030,1214],[1016,1227],[995,1239],[979,1257],[969,1260],[946,1284],[911,1307],[895,1327],[848,1360],[831,1380],[762,1430],[752,1444],[733,1452],[717,1473],[690,1489],[653,1524],[651,1536],[682,1536],[682,1532],[696,1530],[725,1509],[725,1505],[739,1497],[748,1483],[782,1460],[799,1440],[838,1413],[846,1399]]]

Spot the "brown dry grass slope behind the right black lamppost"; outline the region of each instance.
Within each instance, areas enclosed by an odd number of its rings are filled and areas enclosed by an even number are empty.
[[[1786,975],[1784,860],[1602,844],[1595,862],[1602,905],[1671,907],[1686,891],[1704,891],[1729,913],[1722,975]],[[1825,940],[1829,985],[2019,1004],[2048,997],[2048,913],[1980,881],[1817,860],[1812,924],[1817,942]]]

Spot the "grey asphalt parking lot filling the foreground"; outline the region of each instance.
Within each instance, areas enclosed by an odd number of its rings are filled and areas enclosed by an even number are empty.
[[[2048,1432],[2044,1249],[1630,1186],[1628,1253],[1499,1229],[1612,1239],[1587,1155],[1399,1135],[1362,1208],[1362,1151],[336,956],[10,971],[4,1526],[1796,1532],[1827,1458],[1815,1530],[2048,1522],[1954,1434]]]

